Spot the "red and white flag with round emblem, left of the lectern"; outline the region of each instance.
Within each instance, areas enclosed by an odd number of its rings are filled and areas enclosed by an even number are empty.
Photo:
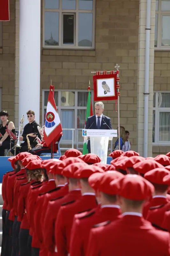
[[[60,117],[55,105],[54,100],[54,86],[50,85],[50,91],[48,94],[47,113],[44,125],[44,140],[47,147],[51,147],[51,143],[55,143],[61,136],[62,126],[60,123]]]

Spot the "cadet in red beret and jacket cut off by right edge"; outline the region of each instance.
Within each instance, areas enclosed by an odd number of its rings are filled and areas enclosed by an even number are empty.
[[[149,180],[155,187],[155,193],[150,204],[157,204],[157,206],[149,208],[146,220],[149,220],[157,228],[162,227],[165,212],[170,209],[170,202],[166,197],[169,182],[163,180],[168,174],[169,171],[165,168],[156,168],[144,175],[144,178]]]

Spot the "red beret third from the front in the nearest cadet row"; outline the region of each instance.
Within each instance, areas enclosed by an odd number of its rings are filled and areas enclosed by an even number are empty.
[[[80,167],[80,169],[74,173],[76,179],[89,178],[90,175],[96,172],[104,172],[100,167],[94,165],[85,165]]]

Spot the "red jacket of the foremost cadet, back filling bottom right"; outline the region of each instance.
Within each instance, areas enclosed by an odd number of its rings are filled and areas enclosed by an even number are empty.
[[[86,256],[169,256],[170,235],[139,216],[125,215],[92,228]],[[97,226],[97,225],[96,225]]]

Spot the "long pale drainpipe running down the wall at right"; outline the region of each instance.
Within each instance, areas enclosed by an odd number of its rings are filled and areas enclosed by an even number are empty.
[[[145,81],[144,81],[144,157],[148,155],[148,112],[149,112],[149,64],[150,64],[150,30],[151,0],[146,5],[146,42],[145,42]]]

